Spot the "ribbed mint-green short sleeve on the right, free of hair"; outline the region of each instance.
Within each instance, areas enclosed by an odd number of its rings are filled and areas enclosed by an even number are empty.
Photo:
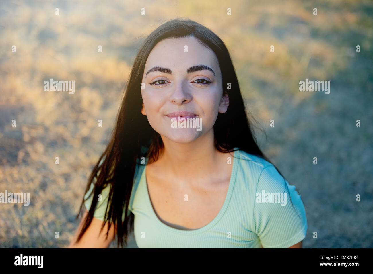
[[[263,248],[289,248],[305,238],[301,196],[272,164],[261,171],[255,194],[253,224]]]

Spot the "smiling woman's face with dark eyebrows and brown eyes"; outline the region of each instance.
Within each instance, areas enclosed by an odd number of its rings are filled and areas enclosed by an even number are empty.
[[[229,105],[216,55],[194,37],[160,41],[147,59],[142,83],[141,113],[162,138],[176,143],[213,133],[217,114]]]

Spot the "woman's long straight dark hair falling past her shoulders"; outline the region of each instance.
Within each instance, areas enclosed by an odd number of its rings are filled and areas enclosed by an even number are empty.
[[[238,148],[271,163],[257,145],[253,125],[245,111],[236,72],[224,42],[209,28],[188,19],[173,19],[163,23],[148,35],[134,60],[110,142],[94,166],[85,190],[87,193],[95,180],[91,195],[97,197],[110,184],[105,222],[101,231],[108,222],[106,233],[108,235],[110,226],[114,224],[118,247],[127,245],[128,235],[134,229],[134,215],[132,212],[127,215],[127,211],[137,160],[148,157],[149,163],[156,161],[160,149],[163,148],[159,133],[150,126],[147,117],[140,112],[141,82],[145,63],[151,50],[159,41],[185,36],[197,38],[216,54],[222,72],[223,93],[228,94],[229,97],[228,110],[224,114],[219,113],[214,124],[216,149],[220,152],[232,152],[234,148]],[[226,88],[228,83],[231,83],[231,89]],[[146,152],[142,147],[147,148]],[[83,198],[79,214],[84,207],[84,201]],[[96,205],[97,199],[92,199],[90,210],[76,242],[79,242],[90,226]],[[124,221],[123,211],[125,211]]]

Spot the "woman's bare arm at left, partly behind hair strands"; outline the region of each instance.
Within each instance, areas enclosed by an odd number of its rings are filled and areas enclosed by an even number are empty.
[[[79,224],[78,229],[75,232],[72,242],[70,242],[67,248],[107,248],[115,237],[115,227],[112,225],[109,230],[109,235],[106,239],[107,226],[106,223],[104,229],[100,232],[102,221],[97,218],[93,218],[90,226],[85,231],[84,235],[78,243],[75,243],[78,238],[80,229],[83,225],[84,218],[88,214],[88,211],[85,210],[82,221]]]

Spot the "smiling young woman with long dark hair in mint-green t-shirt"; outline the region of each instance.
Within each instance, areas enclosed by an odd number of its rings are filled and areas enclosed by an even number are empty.
[[[144,41],[85,193],[70,248],[126,246],[132,230],[139,248],[301,248],[307,232],[295,186],[256,144],[225,44],[190,20]]]

